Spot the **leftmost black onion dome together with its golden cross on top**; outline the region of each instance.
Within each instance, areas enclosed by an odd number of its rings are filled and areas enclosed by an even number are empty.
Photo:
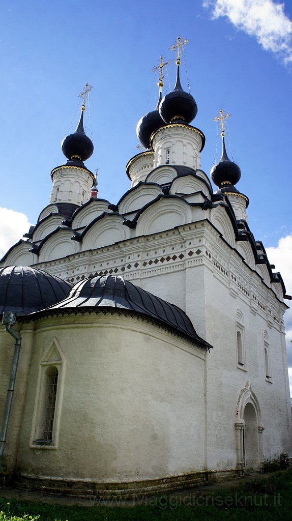
[[[83,127],[85,102],[86,99],[88,100],[91,89],[92,86],[85,83],[84,90],[79,94],[79,97],[82,97],[82,105],[78,126],[75,132],[67,135],[61,144],[62,152],[68,159],[67,165],[82,166],[83,161],[91,157],[93,153],[93,142],[87,137]]]

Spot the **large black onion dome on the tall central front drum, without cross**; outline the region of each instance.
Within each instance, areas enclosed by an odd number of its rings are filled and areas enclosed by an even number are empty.
[[[163,97],[159,106],[159,114],[166,123],[170,123],[172,120],[191,123],[197,112],[198,107],[192,94],[185,92],[182,88],[180,65],[177,65],[175,87],[172,92]]]

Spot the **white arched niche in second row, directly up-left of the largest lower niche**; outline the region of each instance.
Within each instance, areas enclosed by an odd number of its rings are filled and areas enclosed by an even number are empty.
[[[126,214],[139,210],[146,204],[154,201],[161,193],[161,188],[157,184],[143,183],[137,185],[123,197],[119,204],[119,213]]]

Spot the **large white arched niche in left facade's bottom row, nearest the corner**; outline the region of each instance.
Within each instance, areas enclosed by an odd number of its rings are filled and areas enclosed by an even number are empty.
[[[191,208],[181,199],[168,197],[149,206],[139,216],[136,235],[149,235],[191,222]]]

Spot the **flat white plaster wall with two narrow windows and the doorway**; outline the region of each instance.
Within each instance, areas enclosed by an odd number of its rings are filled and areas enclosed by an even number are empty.
[[[236,467],[235,412],[239,392],[251,383],[260,408],[263,457],[279,457],[289,452],[290,423],[287,367],[283,362],[283,332],[268,326],[267,320],[240,295],[235,297],[220,281],[216,270],[205,271],[206,339],[214,349],[207,357],[208,468]],[[237,368],[235,311],[244,315],[246,370]],[[252,311],[253,310],[253,311]],[[269,322],[269,324],[271,324]],[[271,345],[272,383],[266,381],[263,329],[268,329]]]

